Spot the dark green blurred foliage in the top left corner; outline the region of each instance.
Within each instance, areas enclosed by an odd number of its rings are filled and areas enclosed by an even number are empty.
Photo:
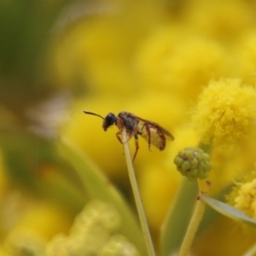
[[[22,113],[54,89],[47,77],[50,30],[67,1],[1,1],[0,101]]]

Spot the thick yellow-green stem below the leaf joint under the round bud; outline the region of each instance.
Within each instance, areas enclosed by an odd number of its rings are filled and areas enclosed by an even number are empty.
[[[183,239],[183,244],[180,248],[178,256],[186,256],[189,253],[192,241],[194,240],[195,233],[198,230],[199,224],[201,224],[201,219],[203,218],[206,208],[206,203],[198,199],[195,204],[195,211],[190,220],[188,230]]]

